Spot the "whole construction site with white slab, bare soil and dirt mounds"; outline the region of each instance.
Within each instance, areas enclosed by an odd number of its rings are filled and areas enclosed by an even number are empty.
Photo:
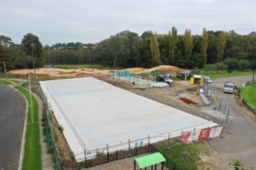
[[[60,137],[57,143],[61,157],[68,157],[61,150],[67,148],[63,143],[81,163],[98,153],[145,147],[179,138],[183,131],[214,128],[224,122],[226,116],[217,115],[198,95],[199,84],[157,82],[156,76],[148,76],[156,70],[168,75],[184,71],[171,66],[124,71],[38,69],[36,76],[53,113],[53,124],[64,129],[64,139]],[[33,76],[29,69],[8,74],[23,77],[27,72]],[[212,104],[218,102],[208,99]]]

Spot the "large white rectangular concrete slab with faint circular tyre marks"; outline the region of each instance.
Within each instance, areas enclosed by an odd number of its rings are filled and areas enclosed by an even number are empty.
[[[40,84],[76,158],[83,158],[83,149],[108,144],[110,151],[117,150],[128,148],[128,139],[134,146],[136,141],[147,143],[148,135],[155,142],[167,139],[169,133],[177,137],[182,130],[218,125],[96,78]]]

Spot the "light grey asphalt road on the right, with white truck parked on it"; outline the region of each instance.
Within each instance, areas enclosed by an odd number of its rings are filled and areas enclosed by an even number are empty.
[[[234,82],[236,86],[241,86],[244,82],[252,80],[252,76],[239,76],[234,78],[220,78],[213,80],[209,85],[210,90],[222,99],[222,104],[227,104],[230,109],[229,120],[231,134],[225,135],[224,139],[213,138],[210,144],[223,158],[227,165],[232,158],[241,160],[244,167],[256,168],[256,123],[253,122],[233,101],[231,94],[224,92],[225,82]],[[256,89],[255,89],[256,90]]]

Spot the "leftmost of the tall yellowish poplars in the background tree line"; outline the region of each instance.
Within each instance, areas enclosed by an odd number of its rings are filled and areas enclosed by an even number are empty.
[[[152,67],[160,65],[160,52],[159,52],[159,44],[157,40],[157,33],[150,37],[150,52],[152,55]]]

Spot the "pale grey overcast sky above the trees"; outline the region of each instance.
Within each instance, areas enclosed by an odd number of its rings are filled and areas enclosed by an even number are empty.
[[[0,34],[20,44],[24,35],[43,46],[82,42],[95,44],[122,31],[192,35],[208,31],[256,31],[256,0],[0,0]]]

